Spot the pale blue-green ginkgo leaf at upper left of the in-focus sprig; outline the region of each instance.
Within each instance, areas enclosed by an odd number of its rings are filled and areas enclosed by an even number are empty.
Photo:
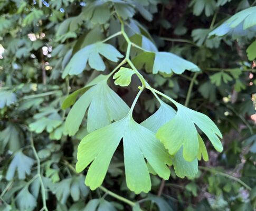
[[[97,42],[88,45],[73,55],[62,73],[62,78],[65,78],[68,74],[80,74],[84,68],[86,68],[87,62],[92,69],[96,69],[98,71],[105,70],[106,66],[101,59],[100,54],[112,62],[117,62],[118,58],[124,57],[110,44]]]

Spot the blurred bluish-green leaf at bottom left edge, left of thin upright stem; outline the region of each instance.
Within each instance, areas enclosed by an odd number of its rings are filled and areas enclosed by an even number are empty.
[[[17,195],[16,202],[20,210],[33,210],[36,207],[36,199],[30,193],[29,186],[25,186]]]

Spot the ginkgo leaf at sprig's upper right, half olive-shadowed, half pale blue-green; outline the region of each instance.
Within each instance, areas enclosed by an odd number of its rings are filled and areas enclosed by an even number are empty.
[[[145,64],[146,70],[149,71],[151,69],[153,74],[157,74],[158,72],[182,74],[185,70],[192,72],[200,71],[198,66],[192,62],[169,52],[144,52],[136,56],[133,61],[138,69],[142,68]]]

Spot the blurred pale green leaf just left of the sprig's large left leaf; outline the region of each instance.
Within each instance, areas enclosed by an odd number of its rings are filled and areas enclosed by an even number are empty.
[[[60,126],[62,123],[62,118],[58,113],[53,113],[48,117],[42,117],[37,119],[35,122],[29,124],[30,130],[36,133],[41,133],[44,130],[47,132],[52,132],[55,128]]]

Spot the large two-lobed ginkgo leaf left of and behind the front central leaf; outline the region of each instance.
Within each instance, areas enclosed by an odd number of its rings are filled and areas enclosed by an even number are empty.
[[[108,87],[107,80],[103,80],[87,90],[74,103],[65,122],[65,131],[70,136],[78,131],[87,109],[87,130],[92,132],[107,126],[113,120],[117,121],[125,117],[129,107]]]

